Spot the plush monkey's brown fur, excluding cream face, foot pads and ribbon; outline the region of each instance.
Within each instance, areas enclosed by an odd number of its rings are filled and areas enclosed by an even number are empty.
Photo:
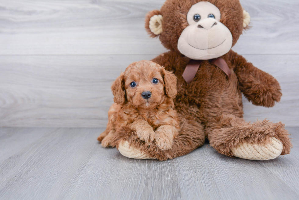
[[[201,0],[167,0],[161,10],[151,11],[146,16],[146,30],[152,37],[148,24],[151,16],[163,16],[159,35],[162,44],[169,49],[153,59],[173,71],[178,77],[178,94],[174,105],[180,118],[179,135],[174,138],[171,150],[163,151],[156,143],[148,144],[139,139],[136,132],[128,127],[120,129],[113,138],[118,146],[122,140],[152,158],[166,160],[185,155],[204,144],[205,138],[219,153],[233,156],[231,149],[244,142],[268,144],[271,137],[283,143],[281,155],[289,154],[292,144],[284,125],[270,123],[267,120],[253,124],[243,119],[242,95],[254,105],[272,107],[279,102],[282,93],[277,80],[268,73],[254,67],[245,58],[233,52],[222,56],[231,70],[230,79],[209,60],[200,64],[195,78],[189,84],[182,74],[190,59],[182,55],[177,48],[178,38],[188,26],[186,14],[192,5]],[[233,36],[233,45],[243,31],[243,9],[239,0],[208,0],[221,12],[221,22],[229,28]]]

